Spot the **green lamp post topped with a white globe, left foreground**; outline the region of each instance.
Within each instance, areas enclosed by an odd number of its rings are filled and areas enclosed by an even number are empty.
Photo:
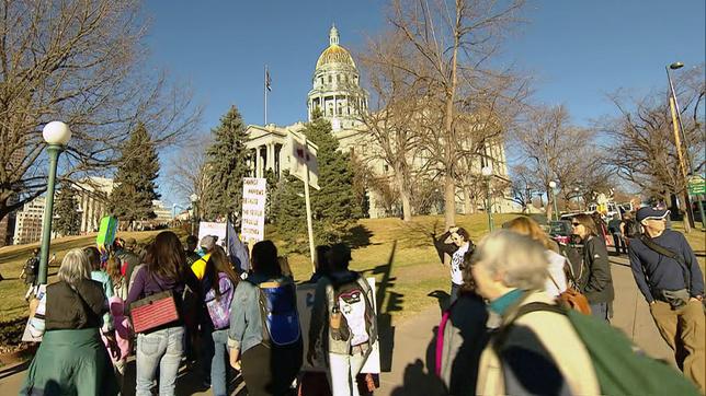
[[[59,161],[59,154],[64,147],[71,139],[71,130],[61,121],[52,121],[44,126],[42,137],[47,145],[49,154],[49,178],[46,187],[46,202],[44,207],[44,219],[42,222],[42,255],[39,256],[39,277],[37,284],[46,284],[48,263],[49,263],[49,243],[52,242],[52,218],[54,212],[54,188],[56,186],[56,167]]]

